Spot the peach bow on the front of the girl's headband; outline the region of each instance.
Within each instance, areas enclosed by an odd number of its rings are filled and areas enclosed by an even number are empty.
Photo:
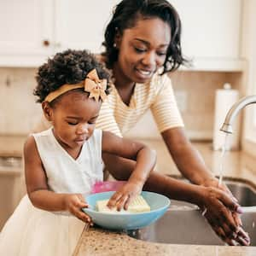
[[[93,69],[87,74],[86,79],[84,79],[84,90],[90,93],[90,98],[94,97],[96,101],[99,101],[101,97],[104,102],[107,98],[105,92],[107,84],[107,79],[99,79],[96,69]]]

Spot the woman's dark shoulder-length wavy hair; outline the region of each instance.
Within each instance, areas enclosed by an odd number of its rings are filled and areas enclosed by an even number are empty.
[[[109,21],[105,31],[107,67],[113,67],[117,61],[119,50],[116,49],[114,39],[116,33],[122,34],[125,29],[136,25],[137,20],[147,18],[160,18],[171,27],[171,42],[167,49],[163,73],[176,70],[181,64],[187,62],[181,49],[181,21],[176,9],[166,0],[123,0],[113,11],[112,20]]]

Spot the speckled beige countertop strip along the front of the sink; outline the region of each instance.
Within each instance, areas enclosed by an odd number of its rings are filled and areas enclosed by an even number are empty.
[[[188,253],[189,252],[189,253]],[[86,226],[73,256],[255,256],[256,247],[177,245],[140,241]]]

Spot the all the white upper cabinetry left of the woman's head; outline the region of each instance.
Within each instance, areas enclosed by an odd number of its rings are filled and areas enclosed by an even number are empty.
[[[63,49],[100,52],[119,0],[0,1],[0,67],[38,67]]]

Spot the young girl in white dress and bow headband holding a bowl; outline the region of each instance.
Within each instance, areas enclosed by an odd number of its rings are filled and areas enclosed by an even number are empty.
[[[128,207],[155,164],[141,143],[95,129],[107,98],[109,75],[93,55],[67,50],[38,69],[34,94],[52,127],[28,137],[24,147],[27,195],[0,236],[1,255],[71,255],[84,222],[86,195],[102,181],[102,153],[137,160],[109,207]],[[121,168],[121,166],[120,166]]]

